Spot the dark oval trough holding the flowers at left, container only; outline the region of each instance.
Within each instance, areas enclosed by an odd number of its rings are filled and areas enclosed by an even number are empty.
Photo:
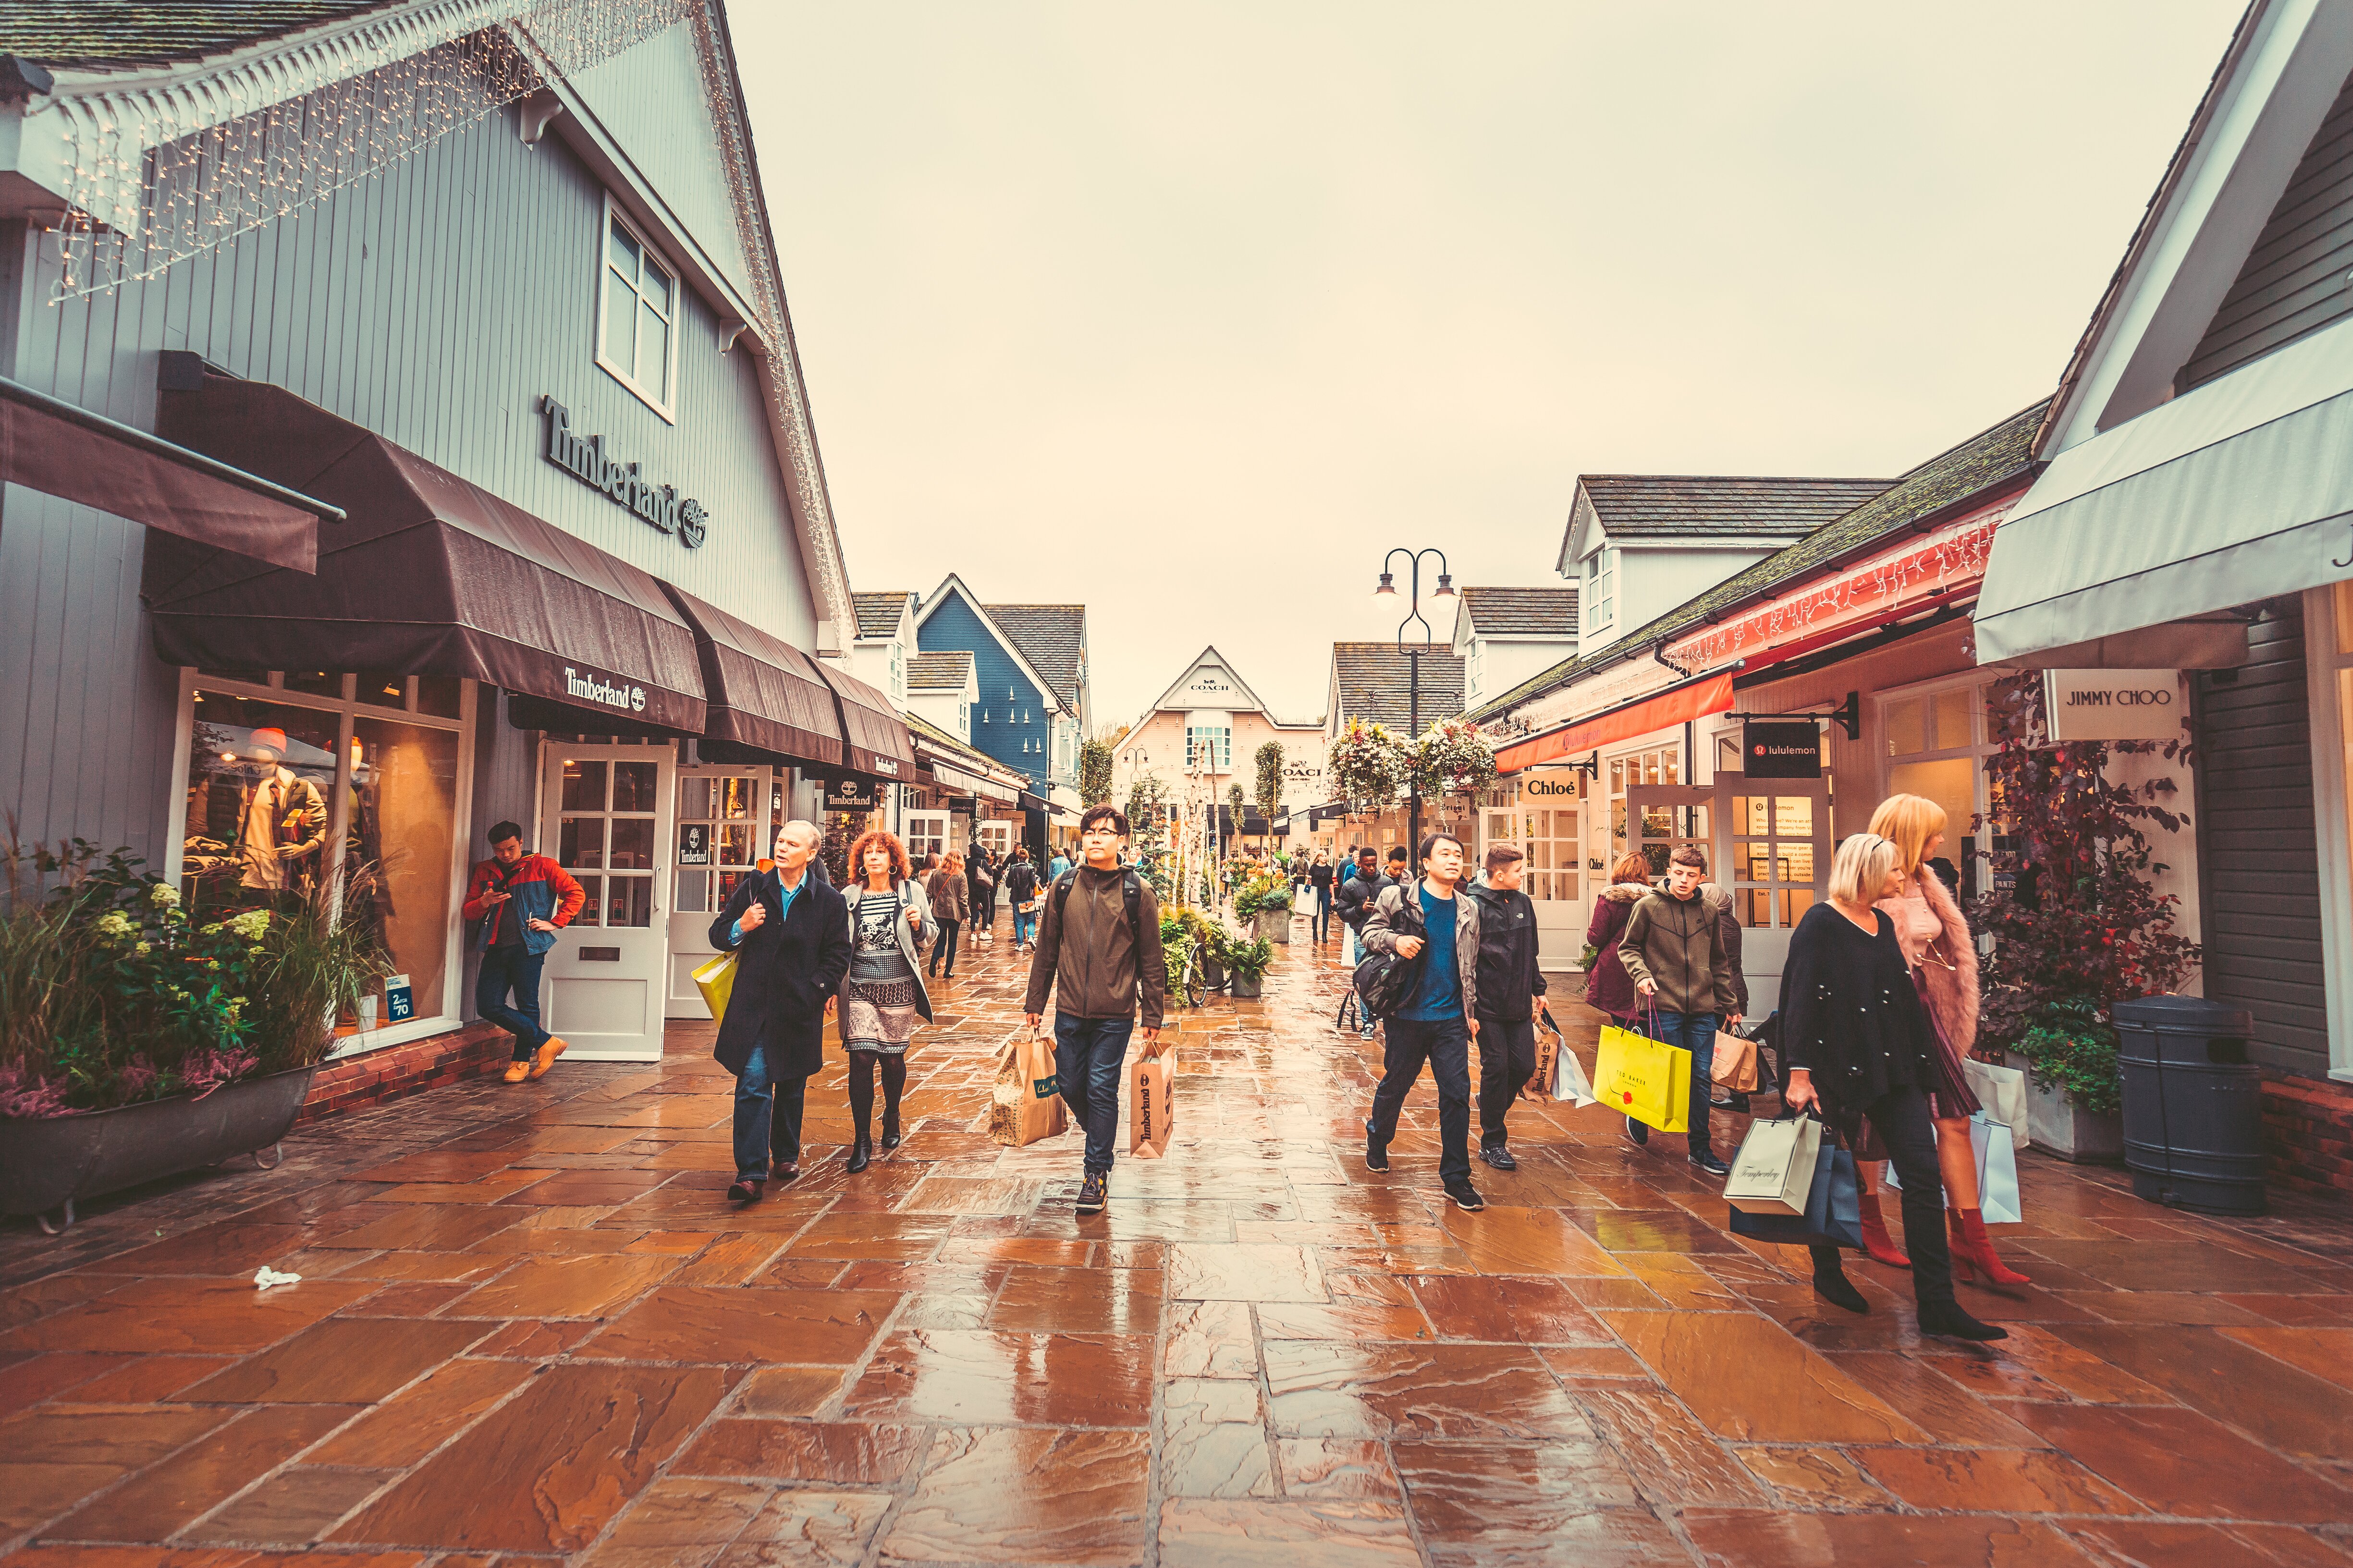
[[[47,1215],[122,1187],[275,1145],[294,1126],[318,1067],[214,1088],[202,1098],[118,1105],[87,1117],[0,1121],[0,1213]],[[42,1218],[42,1229],[49,1220]]]

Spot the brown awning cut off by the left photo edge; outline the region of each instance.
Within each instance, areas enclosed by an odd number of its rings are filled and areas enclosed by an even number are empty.
[[[315,569],[320,517],[344,520],[325,501],[5,376],[0,480],[292,571]]]

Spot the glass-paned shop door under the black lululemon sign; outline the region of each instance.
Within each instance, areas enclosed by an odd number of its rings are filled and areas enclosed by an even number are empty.
[[[1831,780],[1715,776],[1715,818],[1727,856],[1732,912],[1741,922],[1748,1009],[1772,1013],[1788,933],[1831,896]]]

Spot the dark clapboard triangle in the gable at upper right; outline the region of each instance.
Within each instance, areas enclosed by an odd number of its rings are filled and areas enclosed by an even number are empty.
[[[2179,390],[2353,315],[2353,78],[2304,150],[2247,266],[2191,353]]]

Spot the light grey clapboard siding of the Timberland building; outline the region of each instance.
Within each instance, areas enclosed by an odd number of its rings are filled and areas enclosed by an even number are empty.
[[[687,292],[675,425],[598,369],[602,212],[588,167],[553,134],[525,146],[508,110],[96,299],[49,303],[54,249],[0,226],[0,280],[16,284],[0,299],[14,315],[0,371],[153,430],[158,350],[200,353],[812,646],[819,609],[755,360],[722,355],[718,313]],[[544,393],[576,433],[699,498],[708,543],[687,550],[541,461]],[[0,809],[33,839],[82,835],[160,860],[176,672],[148,644],[144,541],[87,508],[0,498]]]

